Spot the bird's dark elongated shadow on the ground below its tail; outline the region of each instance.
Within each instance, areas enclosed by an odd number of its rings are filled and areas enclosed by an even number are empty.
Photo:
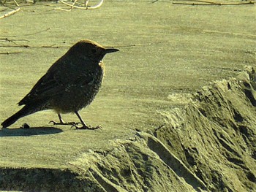
[[[56,127],[2,128],[0,137],[29,137],[34,135],[59,134],[63,132]]]

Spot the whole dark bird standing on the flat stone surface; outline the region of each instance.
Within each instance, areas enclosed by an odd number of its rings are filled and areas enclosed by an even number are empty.
[[[107,48],[91,40],[81,40],[70,47],[65,55],[59,58],[44,76],[38,80],[31,91],[18,103],[24,107],[1,123],[6,128],[16,120],[41,110],[55,110],[59,123],[72,124],[76,128],[91,128],[86,125],[78,111],[88,106],[99,91],[104,74],[102,58],[107,53],[118,51]],[[64,123],[61,113],[74,112],[78,123]]]

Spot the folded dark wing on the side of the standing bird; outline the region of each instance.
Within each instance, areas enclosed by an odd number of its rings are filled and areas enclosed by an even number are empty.
[[[72,59],[60,58],[18,104],[46,101],[50,96],[64,93],[72,85],[85,88],[94,81],[94,74],[90,70],[81,72],[76,67],[70,68],[70,66],[75,66],[72,64]]]

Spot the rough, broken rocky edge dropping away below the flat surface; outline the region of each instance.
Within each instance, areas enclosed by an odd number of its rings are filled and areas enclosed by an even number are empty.
[[[67,168],[1,168],[0,189],[255,191],[255,75],[247,67],[186,95],[184,107],[161,112],[156,130],[116,139],[112,149],[84,153]]]

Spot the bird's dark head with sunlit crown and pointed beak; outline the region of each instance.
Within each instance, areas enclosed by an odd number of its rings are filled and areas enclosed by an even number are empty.
[[[72,55],[92,61],[101,61],[105,54],[116,51],[118,51],[118,49],[103,47],[97,42],[88,39],[80,40],[69,49]]]

